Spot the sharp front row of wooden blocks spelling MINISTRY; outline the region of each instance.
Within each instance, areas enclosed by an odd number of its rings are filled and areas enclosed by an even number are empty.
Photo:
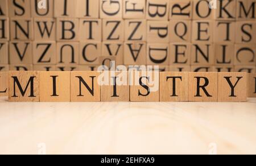
[[[4,76],[5,75],[5,76]],[[217,72],[3,72],[13,102],[246,101],[256,74]]]

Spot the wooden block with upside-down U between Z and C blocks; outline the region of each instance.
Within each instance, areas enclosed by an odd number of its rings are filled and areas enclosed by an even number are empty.
[[[57,64],[79,64],[79,42],[57,42]]]

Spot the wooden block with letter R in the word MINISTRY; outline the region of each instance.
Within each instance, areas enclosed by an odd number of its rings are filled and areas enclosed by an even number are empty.
[[[189,73],[189,101],[217,102],[218,73]]]

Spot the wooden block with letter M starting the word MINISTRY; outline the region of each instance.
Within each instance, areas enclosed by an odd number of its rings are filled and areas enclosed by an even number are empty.
[[[39,72],[11,71],[8,80],[10,102],[39,101]]]

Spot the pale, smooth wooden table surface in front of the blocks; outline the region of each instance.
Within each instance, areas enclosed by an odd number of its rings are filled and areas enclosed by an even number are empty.
[[[256,153],[248,102],[11,103],[0,98],[0,154]]]

